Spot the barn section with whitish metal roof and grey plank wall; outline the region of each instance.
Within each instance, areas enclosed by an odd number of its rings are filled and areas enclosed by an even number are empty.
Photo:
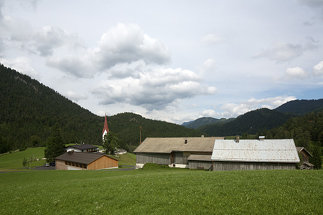
[[[292,139],[215,140],[213,170],[295,169],[299,157]]]

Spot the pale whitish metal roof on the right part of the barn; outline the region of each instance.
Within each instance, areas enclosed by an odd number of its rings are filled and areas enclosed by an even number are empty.
[[[293,139],[215,140],[212,160],[298,163]]]

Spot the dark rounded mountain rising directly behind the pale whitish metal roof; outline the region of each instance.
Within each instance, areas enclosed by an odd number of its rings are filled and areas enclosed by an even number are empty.
[[[224,124],[212,124],[199,128],[209,136],[231,136],[244,133],[255,134],[264,129],[282,125],[292,115],[262,108],[238,116]]]

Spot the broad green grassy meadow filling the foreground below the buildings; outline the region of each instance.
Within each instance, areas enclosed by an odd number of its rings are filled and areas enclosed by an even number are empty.
[[[323,171],[1,173],[0,214],[323,214]]]

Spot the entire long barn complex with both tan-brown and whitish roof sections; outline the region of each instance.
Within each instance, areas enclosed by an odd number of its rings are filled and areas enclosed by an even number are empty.
[[[146,138],[134,151],[146,163],[207,170],[295,169],[294,140],[224,140],[221,137]]]

